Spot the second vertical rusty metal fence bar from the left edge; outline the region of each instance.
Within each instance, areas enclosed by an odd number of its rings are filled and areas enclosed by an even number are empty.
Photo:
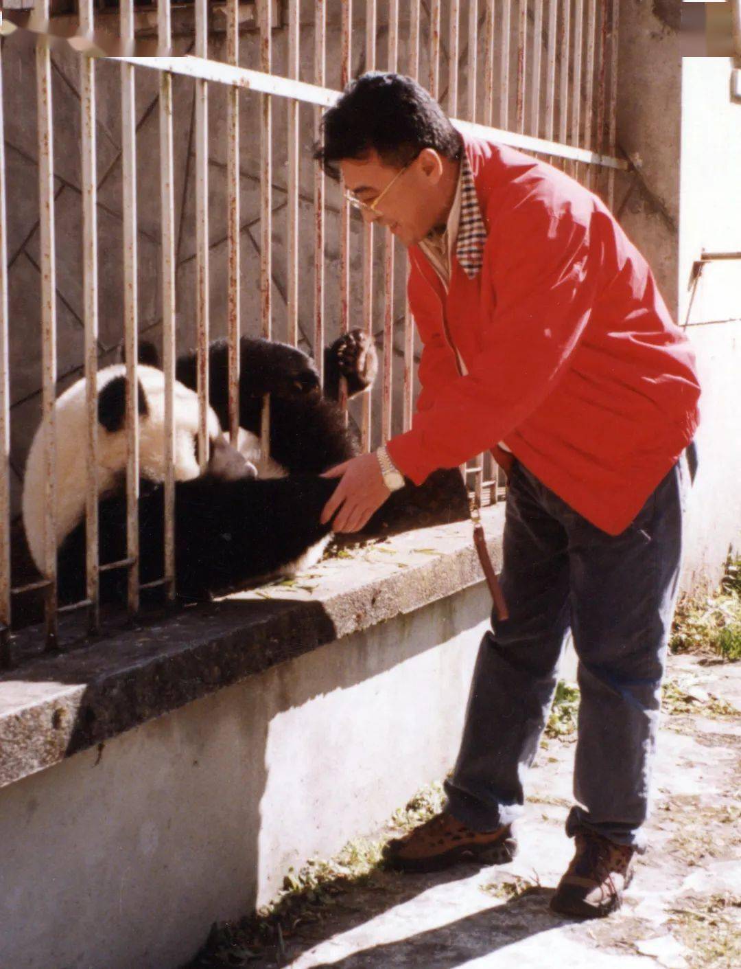
[[[46,23],[49,0],[36,0],[34,16]],[[56,253],[54,244],[54,159],[51,120],[51,53],[46,38],[36,41],[36,87],[39,136],[39,240],[41,245],[42,422],[44,426],[45,505],[44,618],[46,648],[59,641],[56,590]]]

